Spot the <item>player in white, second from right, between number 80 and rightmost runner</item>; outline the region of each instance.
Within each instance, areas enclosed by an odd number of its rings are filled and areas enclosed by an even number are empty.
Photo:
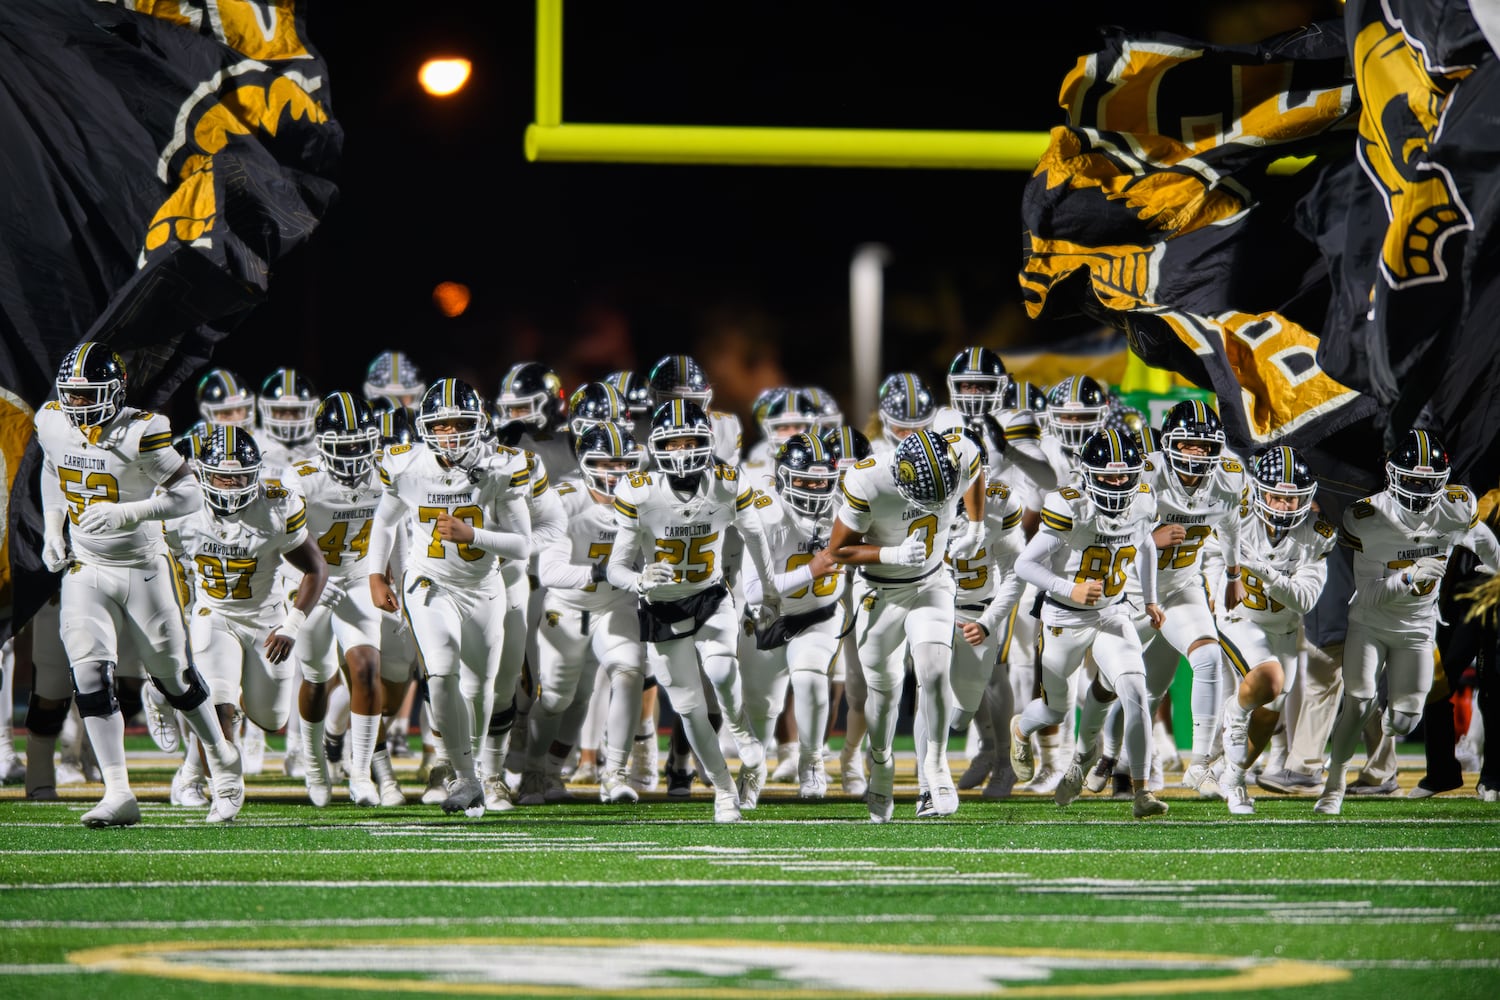
[[[1248,504],[1240,511],[1239,547],[1245,600],[1218,607],[1220,645],[1240,678],[1224,702],[1224,798],[1234,816],[1256,811],[1245,771],[1270,741],[1296,682],[1302,616],[1328,583],[1338,535],[1334,525],[1310,517],[1317,483],[1292,448],[1257,457],[1250,484],[1254,513]]]

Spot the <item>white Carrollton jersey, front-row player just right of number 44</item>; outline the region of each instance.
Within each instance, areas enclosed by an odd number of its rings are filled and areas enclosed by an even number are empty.
[[[396,445],[386,450],[380,471],[386,495],[400,501],[412,516],[406,519],[411,522],[408,574],[466,588],[496,571],[500,559],[494,552],[441,538],[438,517],[448,514],[484,531],[518,531],[507,507],[519,504],[524,510],[530,498],[531,472],[525,456],[502,448],[460,469],[440,462],[424,444]],[[530,525],[519,529],[530,534]]]

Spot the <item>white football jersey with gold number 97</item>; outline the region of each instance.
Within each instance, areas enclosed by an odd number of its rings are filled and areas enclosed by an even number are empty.
[[[297,490],[266,483],[243,510],[220,517],[204,502],[170,522],[166,535],[192,567],[195,609],[261,622],[280,610],[276,573],[282,555],[308,538],[308,505]]]

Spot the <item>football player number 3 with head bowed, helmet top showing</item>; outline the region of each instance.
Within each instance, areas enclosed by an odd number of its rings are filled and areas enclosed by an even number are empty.
[[[914,381],[908,381],[908,396],[912,388]],[[921,393],[926,394],[926,388]],[[927,400],[930,403],[930,396]],[[963,450],[957,450],[958,444]],[[861,567],[854,586],[854,634],[868,690],[866,802],[873,823],[890,822],[894,810],[891,742],[908,655],[916,672],[927,729],[922,766],[933,789],[933,804],[939,816],[951,816],[958,808],[958,793],[948,771],[948,664],[956,588],[944,556],[960,496],[968,517],[963,537],[954,541],[954,556],[972,559],[982,547],[982,490],[974,442],[963,435],[942,436],[932,430],[914,430],[900,438],[894,451],[856,462],[844,474],[844,502],[828,547],[837,562]]]

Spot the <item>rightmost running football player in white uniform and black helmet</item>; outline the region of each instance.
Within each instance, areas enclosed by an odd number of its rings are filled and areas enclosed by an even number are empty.
[[[1449,486],[1449,472],[1437,436],[1410,430],[1386,459],[1386,489],[1344,508],[1340,541],[1354,553],[1354,597],[1344,639],[1344,708],[1329,739],[1317,813],[1338,816],[1344,807],[1344,769],[1365,720],[1378,709],[1382,670],[1389,688],[1384,733],[1406,736],[1422,718],[1432,687],[1437,585],[1454,547],[1500,567],[1500,547],[1479,520],[1474,495]]]

